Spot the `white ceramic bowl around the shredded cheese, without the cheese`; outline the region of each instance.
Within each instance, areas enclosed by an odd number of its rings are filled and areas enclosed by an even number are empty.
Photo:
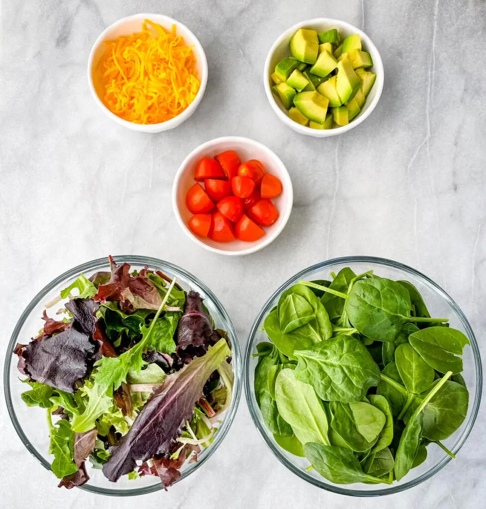
[[[198,71],[198,79],[201,82],[201,86],[199,88],[199,92],[194,99],[194,101],[187,106],[184,111],[177,117],[168,120],[166,122],[160,122],[158,124],[134,124],[133,122],[128,122],[127,120],[123,120],[120,117],[117,117],[114,113],[112,113],[104,104],[103,101],[99,98],[98,93],[96,92],[95,83],[93,82],[92,69],[98,64],[101,55],[103,54],[103,42],[110,41],[116,39],[121,35],[130,35],[136,32],[140,32],[142,30],[142,22],[145,19],[149,19],[159,25],[163,26],[167,30],[172,29],[172,25],[175,24],[177,28],[177,35],[180,35],[184,38],[184,44],[186,46],[193,46],[194,56],[196,58],[196,69]],[[164,16],[163,14],[134,14],[133,16],[128,16],[126,18],[119,19],[112,25],[110,25],[106,30],[102,32],[102,34],[98,37],[96,42],[91,49],[90,57],[88,59],[88,83],[93,94],[93,98],[98,106],[105,112],[107,116],[109,116],[112,120],[117,122],[118,124],[128,127],[133,131],[142,131],[142,132],[160,132],[160,131],[168,131],[169,129],[174,129],[178,125],[182,124],[184,120],[187,120],[191,115],[196,111],[196,108],[199,106],[201,99],[203,98],[204,91],[206,90],[207,83],[207,61],[206,55],[204,53],[204,49],[201,46],[201,43],[198,41],[196,36],[182,23],[176,21],[175,19],[169,18],[168,16]]]

